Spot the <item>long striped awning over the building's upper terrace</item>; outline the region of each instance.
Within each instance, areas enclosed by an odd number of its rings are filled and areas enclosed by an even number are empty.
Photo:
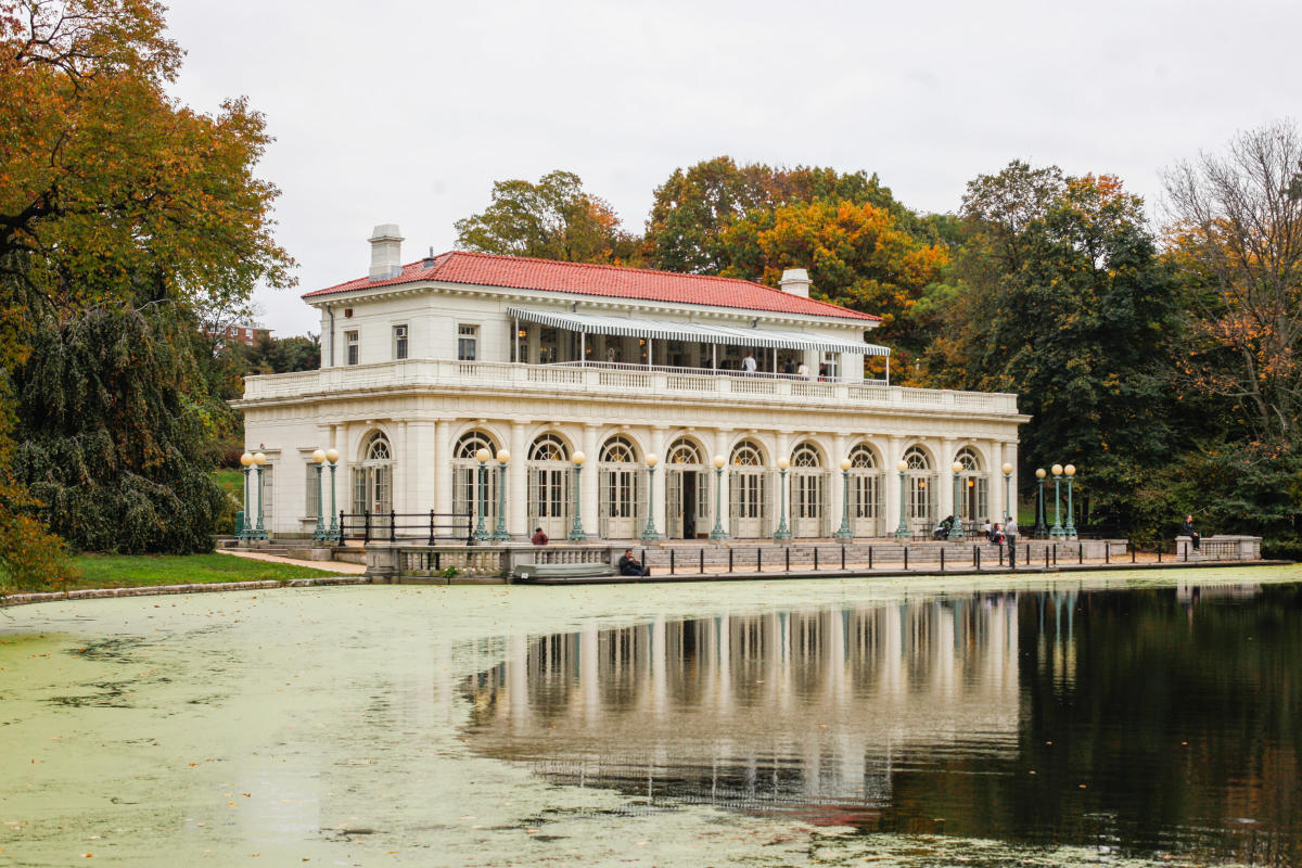
[[[769,328],[737,328],[734,325],[716,325],[713,323],[570,314],[529,307],[508,307],[506,314],[526,323],[538,323],[539,325],[564,328],[587,334],[626,334],[629,337],[648,337],[661,341],[695,341],[699,344],[727,344],[729,346],[766,346],[780,350],[822,350],[824,353],[855,353],[858,355],[891,355],[889,349],[878,344],[838,341],[803,332],[781,332]]]

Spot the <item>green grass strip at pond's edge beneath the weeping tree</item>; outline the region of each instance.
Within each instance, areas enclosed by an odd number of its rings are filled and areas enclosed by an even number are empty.
[[[81,578],[69,588],[137,588],[148,584],[259,582],[340,575],[290,563],[267,563],[230,554],[81,554]]]

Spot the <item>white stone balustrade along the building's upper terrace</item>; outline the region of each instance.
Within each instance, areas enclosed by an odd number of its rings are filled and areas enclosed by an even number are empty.
[[[954,413],[1016,414],[1017,396],[999,392],[954,392],[885,385],[880,380],[835,381],[796,375],[647,368],[633,364],[514,364],[406,359],[378,364],[245,377],[240,405],[262,401],[380,394],[411,388],[521,389],[547,387],[551,394],[674,396],[694,401],[758,401],[773,403],[878,406]]]

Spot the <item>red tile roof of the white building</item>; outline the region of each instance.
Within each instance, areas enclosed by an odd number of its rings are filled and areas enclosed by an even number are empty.
[[[740,307],[773,314],[805,316],[833,316],[838,319],[880,320],[880,316],[852,311],[840,305],[818,302],[771,289],[749,280],[710,277],[704,275],[678,275],[646,268],[594,265],[589,263],[526,259],[454,250],[435,256],[430,267],[418,260],[402,267],[402,273],[388,280],[359,277],[346,284],[306,293],[303,298],[320,298],[359,289],[376,289],[436,280],[448,284],[474,286],[504,286],[509,289],[538,289],[577,295],[607,298],[635,298],[648,302],[677,305],[707,305],[711,307]]]

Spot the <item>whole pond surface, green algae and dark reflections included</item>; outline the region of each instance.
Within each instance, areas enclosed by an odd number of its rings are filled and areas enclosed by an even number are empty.
[[[0,612],[0,864],[1302,864],[1302,569]]]

